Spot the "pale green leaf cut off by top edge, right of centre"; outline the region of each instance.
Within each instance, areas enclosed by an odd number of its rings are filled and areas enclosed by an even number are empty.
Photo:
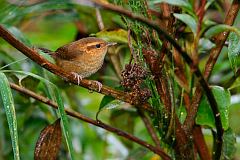
[[[191,15],[195,15],[191,4],[186,0],[153,0],[151,3],[167,3],[174,6],[182,7],[183,10],[189,12]]]

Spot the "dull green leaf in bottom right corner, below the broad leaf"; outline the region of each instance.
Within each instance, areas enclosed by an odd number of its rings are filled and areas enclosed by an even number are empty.
[[[234,159],[235,152],[237,151],[236,143],[236,136],[232,129],[229,128],[223,134],[223,159]]]

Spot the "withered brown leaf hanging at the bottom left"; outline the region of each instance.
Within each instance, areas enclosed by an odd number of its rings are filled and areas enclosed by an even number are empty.
[[[56,160],[62,143],[60,119],[41,131],[35,146],[34,160]]]

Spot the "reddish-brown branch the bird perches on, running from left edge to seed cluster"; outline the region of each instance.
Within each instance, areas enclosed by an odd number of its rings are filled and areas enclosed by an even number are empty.
[[[47,61],[44,59],[41,55],[38,54],[38,52],[32,48],[29,48],[28,46],[24,45],[22,42],[17,40],[9,31],[7,31],[1,24],[0,24],[0,36],[6,40],[10,45],[12,45],[14,48],[22,52],[24,55],[26,55],[28,58],[42,66],[43,68],[47,69],[48,71],[62,77],[63,79],[67,79],[69,82],[74,83],[78,85],[78,79],[76,76],[74,76],[72,73],[68,73],[64,71],[62,68],[56,66],[55,64]],[[82,87],[85,87],[89,90],[94,90],[96,92],[98,91],[98,85],[94,83],[91,80],[83,79],[80,81],[80,85]],[[103,86],[101,88],[100,93],[104,95],[112,96],[116,99],[122,100],[124,102],[134,104],[135,102],[132,101],[131,96],[129,96],[127,93],[122,91],[114,90],[110,87]],[[149,104],[144,104],[143,108],[152,111]]]

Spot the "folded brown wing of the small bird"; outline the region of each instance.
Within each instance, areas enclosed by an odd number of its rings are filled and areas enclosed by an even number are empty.
[[[80,54],[83,54],[81,47],[77,43],[71,43],[58,48],[55,56],[64,60],[71,60]]]

